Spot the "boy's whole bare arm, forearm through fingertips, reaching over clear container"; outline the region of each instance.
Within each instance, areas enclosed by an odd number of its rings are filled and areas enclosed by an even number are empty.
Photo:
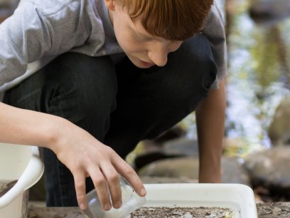
[[[119,175],[139,195],[146,194],[134,169],[112,148],[64,118],[15,108],[0,102],[0,141],[38,145],[53,150],[58,159],[73,173],[80,209],[87,207],[85,177],[92,177],[104,209],[121,206]],[[113,205],[110,203],[107,187],[112,194]]]

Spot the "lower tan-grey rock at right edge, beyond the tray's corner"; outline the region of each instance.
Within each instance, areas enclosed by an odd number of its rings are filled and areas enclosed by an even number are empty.
[[[252,152],[245,158],[244,166],[254,186],[290,197],[290,147]]]

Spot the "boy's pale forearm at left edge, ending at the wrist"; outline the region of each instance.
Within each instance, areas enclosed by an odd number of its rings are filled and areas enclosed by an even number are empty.
[[[0,103],[0,142],[53,149],[51,146],[60,133],[58,128],[65,122],[63,118],[54,115]]]

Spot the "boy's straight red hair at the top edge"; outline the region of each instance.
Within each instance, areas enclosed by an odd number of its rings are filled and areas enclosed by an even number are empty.
[[[132,21],[141,16],[144,29],[171,41],[199,33],[213,0],[120,0]]]

